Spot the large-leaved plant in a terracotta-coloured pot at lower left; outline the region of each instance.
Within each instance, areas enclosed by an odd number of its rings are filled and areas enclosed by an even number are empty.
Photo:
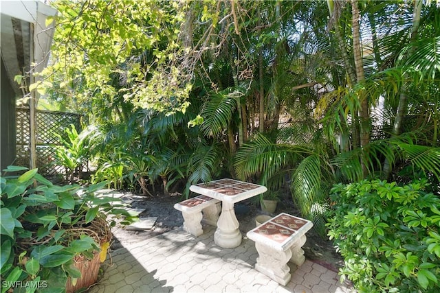
[[[56,186],[26,170],[9,166],[3,171],[25,172],[0,176],[1,293],[74,292],[96,283],[115,218],[133,218],[117,199],[96,195],[106,183]]]

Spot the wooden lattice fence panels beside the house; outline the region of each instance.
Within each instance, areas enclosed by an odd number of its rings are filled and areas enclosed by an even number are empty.
[[[30,165],[30,110],[17,108],[17,159],[14,165],[29,167]],[[66,138],[65,128],[73,124],[80,132],[81,116],[74,113],[54,112],[47,110],[36,111],[36,167],[45,176],[65,174],[65,168],[56,165],[55,145],[61,145],[60,134]]]

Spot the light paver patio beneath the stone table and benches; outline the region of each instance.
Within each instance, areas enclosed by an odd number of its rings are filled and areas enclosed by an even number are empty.
[[[204,228],[199,237],[177,229],[113,251],[113,264],[104,263],[102,279],[89,292],[354,292],[339,283],[336,272],[309,260],[291,267],[291,281],[279,285],[254,269],[258,253],[252,240],[220,248],[214,227]]]

